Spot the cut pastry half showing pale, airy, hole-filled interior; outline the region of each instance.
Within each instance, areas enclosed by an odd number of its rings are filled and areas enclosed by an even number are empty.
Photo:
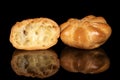
[[[48,18],[34,18],[17,22],[11,29],[10,42],[17,49],[48,49],[60,35],[58,24]]]

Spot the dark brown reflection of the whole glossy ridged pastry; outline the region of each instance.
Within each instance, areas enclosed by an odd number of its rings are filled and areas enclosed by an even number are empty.
[[[80,50],[66,47],[60,57],[61,66],[70,72],[96,74],[106,71],[110,60],[102,49]]]

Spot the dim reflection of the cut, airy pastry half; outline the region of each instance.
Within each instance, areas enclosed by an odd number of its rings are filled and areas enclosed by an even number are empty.
[[[54,75],[60,64],[57,54],[52,50],[16,50],[12,56],[11,66],[18,75],[46,78]]]

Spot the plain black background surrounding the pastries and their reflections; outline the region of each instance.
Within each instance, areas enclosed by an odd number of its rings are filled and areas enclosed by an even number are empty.
[[[7,5],[8,3],[9,5]],[[117,2],[102,0],[80,0],[80,1],[16,1],[13,3],[0,3],[0,78],[4,80],[40,80],[16,75],[10,66],[10,61],[15,48],[9,42],[9,35],[12,25],[17,21],[28,18],[48,17],[55,20],[59,25],[69,18],[83,18],[87,15],[103,16],[112,28],[112,35],[108,41],[101,47],[108,55],[111,65],[110,68],[100,74],[84,75],[82,73],[71,73],[64,69],[60,70],[53,76],[45,80],[114,80],[118,71],[118,54],[113,50],[113,35],[117,31],[119,17]],[[114,6],[113,6],[114,5]],[[116,31],[115,31],[116,30]],[[53,46],[58,56],[65,45],[59,39],[59,42]],[[115,47],[114,47],[115,48]],[[117,54],[118,53],[118,54]],[[116,66],[117,65],[117,66]]]

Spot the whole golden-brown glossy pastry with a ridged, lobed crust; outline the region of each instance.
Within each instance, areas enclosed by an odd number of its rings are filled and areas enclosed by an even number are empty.
[[[103,17],[89,15],[83,19],[70,18],[60,25],[61,40],[81,49],[94,49],[104,44],[111,35],[112,29]]]

